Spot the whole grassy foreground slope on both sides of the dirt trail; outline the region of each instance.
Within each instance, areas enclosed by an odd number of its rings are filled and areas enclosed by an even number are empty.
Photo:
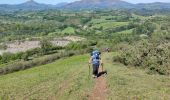
[[[101,76],[102,79],[89,78],[89,55],[64,58],[51,64],[0,76],[0,97],[2,100],[87,100],[93,92],[97,92],[96,87],[105,86],[106,91],[100,91],[106,94],[104,99],[108,100],[170,99],[168,76],[148,75],[143,69],[113,63],[110,55],[116,53],[102,55],[104,68],[108,70],[108,75]]]

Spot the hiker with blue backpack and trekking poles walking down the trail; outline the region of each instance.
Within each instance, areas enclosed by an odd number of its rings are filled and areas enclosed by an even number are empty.
[[[103,67],[103,63],[102,63],[100,55],[101,55],[101,53],[98,50],[94,50],[91,53],[89,65],[92,64],[92,66],[93,66],[93,78],[98,77],[100,65]],[[103,71],[103,68],[102,68],[102,71]]]

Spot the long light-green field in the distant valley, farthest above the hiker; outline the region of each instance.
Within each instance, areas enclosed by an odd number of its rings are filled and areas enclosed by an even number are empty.
[[[125,25],[128,25],[128,22],[105,22],[105,23],[95,24],[92,26],[92,28],[103,27],[103,29],[109,29],[109,28],[120,27]]]

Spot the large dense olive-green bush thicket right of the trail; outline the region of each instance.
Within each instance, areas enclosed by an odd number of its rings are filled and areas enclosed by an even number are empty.
[[[127,45],[121,49],[120,55],[114,57],[114,61],[167,75],[170,74],[170,44],[142,41],[133,46]]]

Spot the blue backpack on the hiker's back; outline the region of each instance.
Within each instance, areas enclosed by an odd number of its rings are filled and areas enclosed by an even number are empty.
[[[91,53],[92,57],[92,64],[99,64],[100,63],[100,52],[95,50]]]

